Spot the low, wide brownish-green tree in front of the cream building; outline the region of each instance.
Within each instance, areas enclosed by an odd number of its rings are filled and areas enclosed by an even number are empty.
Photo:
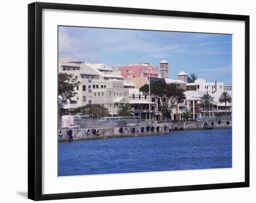
[[[73,114],[79,114],[89,118],[102,118],[110,116],[108,108],[105,108],[100,104],[87,104],[85,106],[75,108]]]

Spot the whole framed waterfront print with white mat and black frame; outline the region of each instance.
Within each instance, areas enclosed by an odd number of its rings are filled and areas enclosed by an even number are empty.
[[[28,82],[30,199],[249,187],[249,16],[32,3]]]

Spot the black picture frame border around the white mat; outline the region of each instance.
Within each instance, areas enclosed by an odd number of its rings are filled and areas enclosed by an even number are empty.
[[[135,188],[42,194],[42,9],[61,9],[107,13],[126,13],[156,16],[227,19],[245,22],[245,174],[244,182],[200,184],[170,187]],[[28,5],[28,198],[53,200],[81,197],[134,195],[188,190],[211,190],[249,187],[249,16],[217,13],[196,13],[141,8],[89,6],[35,2]]]

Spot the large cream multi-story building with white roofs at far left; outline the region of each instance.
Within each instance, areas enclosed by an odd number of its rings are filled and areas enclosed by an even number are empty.
[[[105,63],[85,63],[74,58],[59,58],[59,72],[73,74],[81,82],[74,90],[77,95],[66,101],[70,111],[86,104],[101,104],[115,116],[118,106],[127,103],[129,89],[135,88],[131,82],[124,82],[121,71],[116,71]]]

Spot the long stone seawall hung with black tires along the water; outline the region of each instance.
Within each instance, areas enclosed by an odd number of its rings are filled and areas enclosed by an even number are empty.
[[[144,131],[142,127],[144,127]],[[121,127],[88,127],[81,129],[71,129],[71,131],[67,129],[59,130],[58,140],[92,140],[128,136],[146,136],[155,134],[167,134],[171,131],[177,130],[210,130],[230,127],[232,127],[232,121],[221,121],[220,124],[218,122],[161,123],[153,124],[149,127],[149,129],[147,129],[147,126],[143,124],[141,124],[139,127],[122,127],[122,130]],[[97,130],[100,130],[100,132],[97,132]],[[70,135],[70,132],[72,132],[72,135]]]

